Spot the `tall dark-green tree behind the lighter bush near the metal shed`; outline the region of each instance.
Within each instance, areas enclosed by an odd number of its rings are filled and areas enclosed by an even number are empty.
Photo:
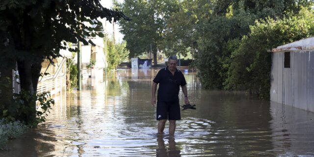
[[[224,89],[232,52],[249,34],[255,20],[282,19],[295,14],[308,0],[212,0],[208,19],[196,26],[197,68],[203,87]],[[247,60],[244,60],[246,62]]]

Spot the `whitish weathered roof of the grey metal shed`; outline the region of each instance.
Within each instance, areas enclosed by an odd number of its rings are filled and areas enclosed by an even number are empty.
[[[291,51],[309,51],[314,50],[314,37],[305,38],[299,41],[288,43],[272,49],[271,52],[291,52]]]

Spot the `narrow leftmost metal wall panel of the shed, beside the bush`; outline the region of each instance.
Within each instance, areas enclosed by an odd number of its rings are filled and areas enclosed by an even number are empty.
[[[270,101],[278,102],[278,58],[280,53],[272,53],[270,72]]]

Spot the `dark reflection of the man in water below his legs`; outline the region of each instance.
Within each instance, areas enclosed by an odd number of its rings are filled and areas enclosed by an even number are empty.
[[[158,149],[156,150],[156,157],[181,157],[180,149],[176,148],[175,138],[169,137],[169,149],[165,147],[165,141],[162,136],[157,137]]]

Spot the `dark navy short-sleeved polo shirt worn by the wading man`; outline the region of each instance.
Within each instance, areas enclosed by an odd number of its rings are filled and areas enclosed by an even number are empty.
[[[180,70],[176,69],[175,75],[172,76],[171,72],[168,70],[168,66],[162,68],[153,81],[159,84],[157,101],[179,102],[180,85],[184,86],[186,84],[185,78]]]

